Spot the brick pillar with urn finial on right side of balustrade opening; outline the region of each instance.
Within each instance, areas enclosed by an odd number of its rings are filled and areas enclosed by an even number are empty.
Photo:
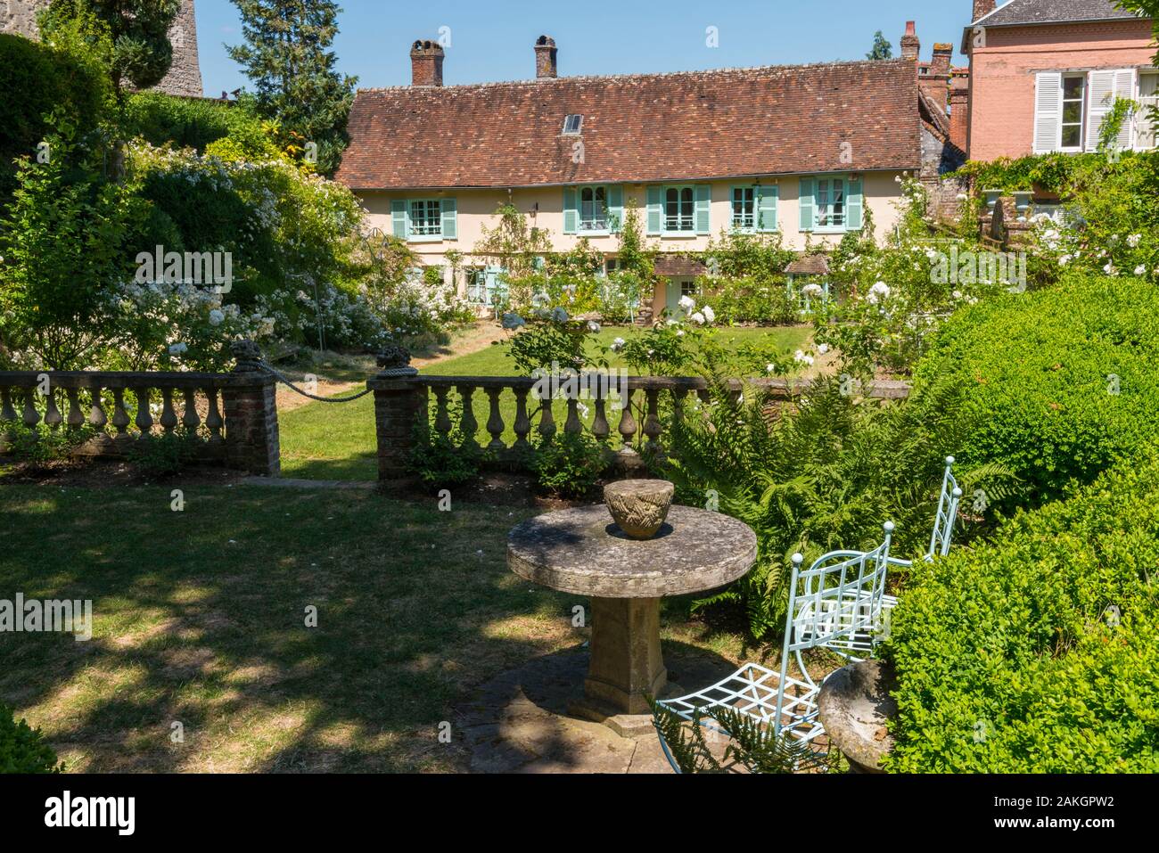
[[[407,457],[415,444],[415,425],[427,423],[429,393],[417,380],[410,353],[387,347],[378,356],[381,371],[366,382],[374,392],[374,435],[378,439],[378,479],[407,476]]]

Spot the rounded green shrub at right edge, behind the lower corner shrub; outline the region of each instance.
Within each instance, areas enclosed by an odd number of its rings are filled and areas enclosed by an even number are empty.
[[[1092,482],[1159,435],[1159,291],[1072,276],[958,312],[917,371],[958,389],[975,429],[955,453],[998,461],[1033,502]]]

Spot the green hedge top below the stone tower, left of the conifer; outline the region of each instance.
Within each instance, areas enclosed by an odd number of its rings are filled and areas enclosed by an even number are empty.
[[[278,156],[274,127],[235,103],[139,92],[129,96],[122,126],[126,137],[143,137],[158,147],[172,145],[204,154],[213,143],[227,141],[249,160]]]

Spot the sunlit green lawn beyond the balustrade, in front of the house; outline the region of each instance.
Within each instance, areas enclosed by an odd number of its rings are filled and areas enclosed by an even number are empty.
[[[632,329],[608,327],[599,333],[599,340],[606,345],[617,336],[626,337]],[[787,350],[795,350],[809,340],[810,329],[808,327],[788,327],[772,329],[724,329],[721,333],[724,341],[730,341],[732,345],[746,342],[772,338]],[[511,360],[505,356],[506,348],[500,345],[488,347],[479,352],[473,352],[458,358],[449,358],[445,362],[430,365],[423,369],[423,373],[433,376],[511,376],[513,369]],[[618,359],[610,362],[612,367],[621,367],[622,362]],[[340,396],[345,396],[342,394]],[[457,393],[450,394],[451,400],[455,400]],[[479,422],[476,440],[486,446],[490,440],[490,435],[486,430],[489,414],[489,402],[487,395],[476,391],[473,398],[473,411]],[[511,444],[515,440],[512,425],[515,423],[515,395],[504,392],[501,396],[501,413],[503,422],[506,424],[504,440]],[[560,429],[567,417],[567,406],[563,401],[556,401],[552,408]],[[584,421],[591,424],[595,413],[589,407]],[[612,429],[617,422],[611,417]],[[538,420],[535,421],[538,425]],[[376,461],[374,445],[374,409],[371,396],[363,398],[353,403],[311,403],[301,408],[287,411],[279,417],[279,429],[282,439],[282,473],[289,477],[301,477],[307,480],[374,480],[378,477],[378,464]]]

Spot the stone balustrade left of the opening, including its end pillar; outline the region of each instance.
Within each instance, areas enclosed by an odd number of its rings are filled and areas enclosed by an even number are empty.
[[[3,422],[95,436],[75,453],[118,457],[145,437],[178,426],[201,461],[250,474],[280,473],[275,379],[252,363],[232,373],[0,371]]]

